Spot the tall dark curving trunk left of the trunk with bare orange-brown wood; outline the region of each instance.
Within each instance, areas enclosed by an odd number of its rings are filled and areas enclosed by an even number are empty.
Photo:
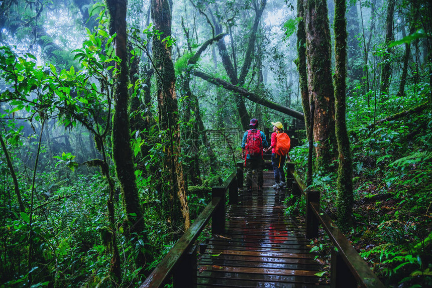
[[[138,239],[148,243],[147,235],[144,233],[145,225],[143,219],[143,211],[140,205],[138,196],[138,187],[136,184],[133,152],[130,142],[130,122],[129,122],[129,69],[128,69],[128,50],[127,50],[127,34],[126,34],[126,0],[106,0],[106,6],[110,13],[110,34],[117,34],[114,40],[116,56],[121,60],[116,63],[120,73],[117,76],[115,87],[115,113],[113,116],[113,160],[116,166],[117,178],[120,182],[123,202],[126,210],[127,222],[129,225],[130,239],[135,239],[133,246],[138,245]],[[110,204],[111,205],[111,204]],[[114,209],[110,207],[109,210]],[[112,240],[116,238],[115,227],[112,227]],[[113,242],[113,246],[117,243]],[[144,272],[148,255],[145,255],[142,250],[151,251],[150,247],[143,247],[137,251],[136,263],[141,266],[141,272]],[[118,253],[118,251],[117,251]],[[120,257],[113,255],[112,270],[117,275],[120,273]],[[120,274],[121,276],[121,274]]]

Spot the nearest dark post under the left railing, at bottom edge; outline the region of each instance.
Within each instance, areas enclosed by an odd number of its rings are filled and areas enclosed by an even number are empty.
[[[177,262],[172,274],[173,287],[196,287],[196,268],[196,245],[193,245]]]

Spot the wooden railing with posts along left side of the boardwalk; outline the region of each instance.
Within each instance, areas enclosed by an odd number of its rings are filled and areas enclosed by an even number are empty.
[[[163,287],[172,283],[175,287],[196,286],[196,245],[195,240],[211,219],[212,234],[225,232],[225,204],[229,191],[230,204],[238,201],[238,181],[233,173],[223,186],[211,189],[211,202],[190,225],[190,228],[175,243],[174,247],[159,262],[153,272],[141,284],[144,287]]]

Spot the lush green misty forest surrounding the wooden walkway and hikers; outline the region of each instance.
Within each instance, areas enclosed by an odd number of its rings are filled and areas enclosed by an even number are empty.
[[[431,16],[425,0],[0,1],[0,287],[139,286],[243,161],[251,118],[293,131],[296,173],[387,286],[432,285]]]

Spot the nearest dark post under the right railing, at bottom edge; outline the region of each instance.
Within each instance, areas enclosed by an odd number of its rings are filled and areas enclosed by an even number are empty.
[[[342,259],[341,253],[332,249],[332,271],[330,275],[331,288],[357,288],[357,280],[351,273],[345,261]]]

